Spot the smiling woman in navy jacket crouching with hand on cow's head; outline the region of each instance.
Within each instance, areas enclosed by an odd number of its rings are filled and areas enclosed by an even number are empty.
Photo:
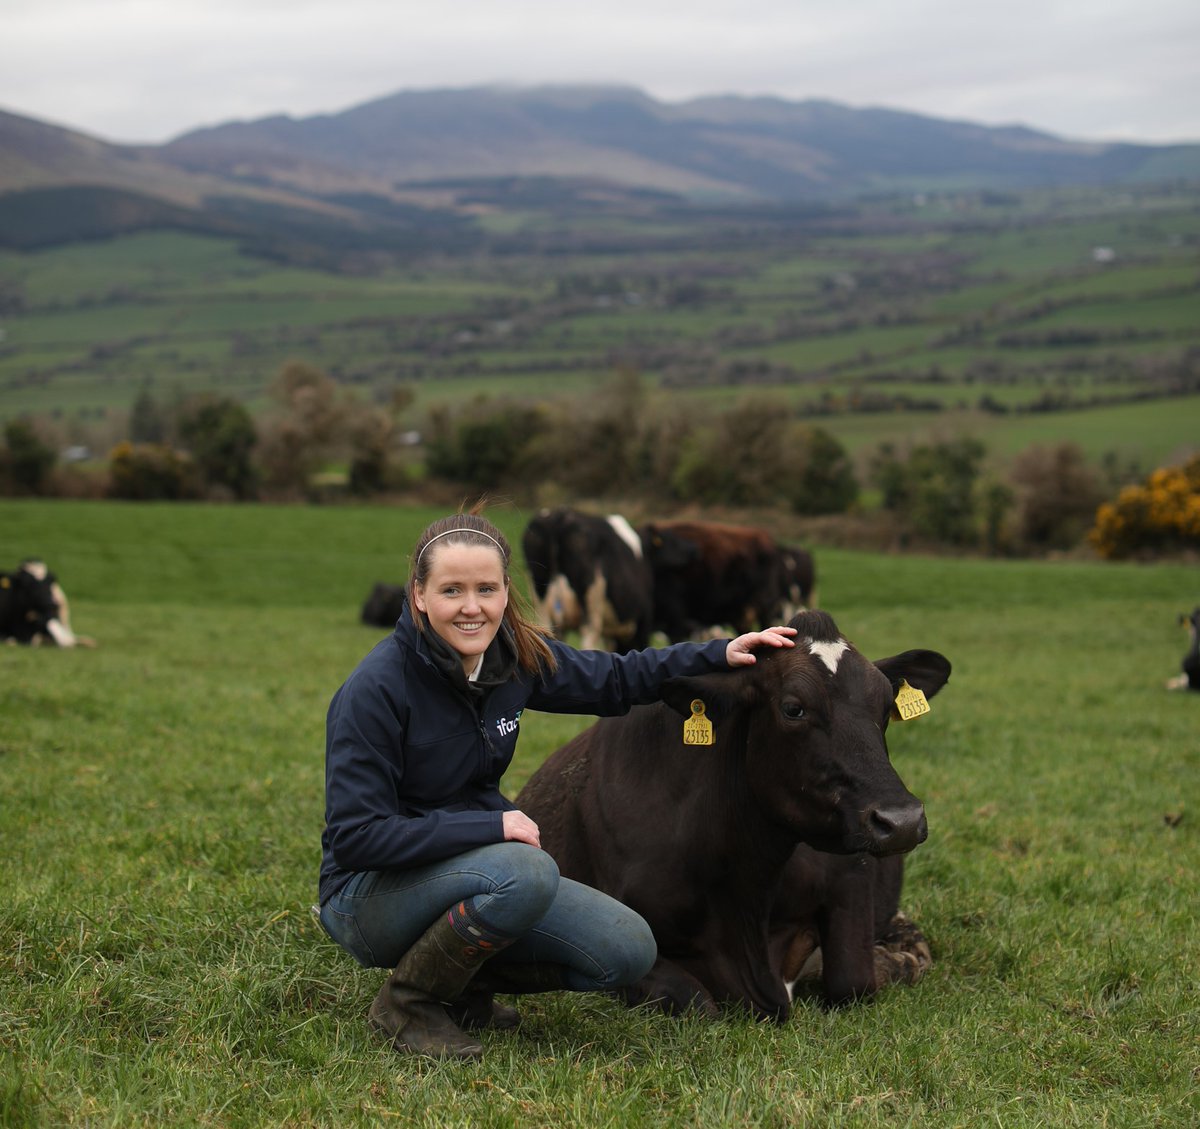
[[[476,1058],[458,1025],[516,1019],[492,992],[610,990],[654,963],[646,921],[560,877],[538,825],[502,795],[522,711],[623,714],[667,678],[792,645],[790,627],[770,627],[626,655],[575,650],[529,620],[511,556],[479,514],[433,522],[395,632],[329,708],[320,920],[361,965],[394,968],[368,1020],[401,1051]]]

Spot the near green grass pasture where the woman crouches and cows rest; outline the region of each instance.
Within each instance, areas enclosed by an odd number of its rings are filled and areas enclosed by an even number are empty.
[[[889,732],[930,823],[916,987],[781,1026],[526,997],[481,1063],[380,1046],[383,973],[308,915],[323,716],[433,516],[0,502],[0,557],[49,560],[100,643],[0,649],[0,1124],[1200,1122],[1200,696],[1164,689],[1194,564],[814,546],[864,651],[954,663]],[[527,715],[510,792],[587,720]]]

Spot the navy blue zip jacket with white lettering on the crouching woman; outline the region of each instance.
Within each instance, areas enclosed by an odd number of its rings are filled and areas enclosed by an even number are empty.
[[[625,655],[551,641],[558,668],[530,675],[516,668],[502,633],[472,690],[431,648],[428,630],[419,631],[406,607],[330,703],[322,905],[358,871],[502,842],[503,813],[515,805],[500,793],[500,776],[524,709],[624,714],[655,701],[668,678],[728,669],[727,639]]]

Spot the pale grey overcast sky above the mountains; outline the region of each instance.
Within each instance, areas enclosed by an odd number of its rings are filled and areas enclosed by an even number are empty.
[[[0,108],[112,142],[491,83],[1200,142],[1198,60],[1198,0],[0,0]]]

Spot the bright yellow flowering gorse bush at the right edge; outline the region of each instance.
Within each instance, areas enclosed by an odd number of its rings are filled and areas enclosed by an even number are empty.
[[[1200,548],[1200,455],[1182,467],[1159,467],[1141,486],[1126,486],[1096,511],[1087,540],[1109,560]]]

